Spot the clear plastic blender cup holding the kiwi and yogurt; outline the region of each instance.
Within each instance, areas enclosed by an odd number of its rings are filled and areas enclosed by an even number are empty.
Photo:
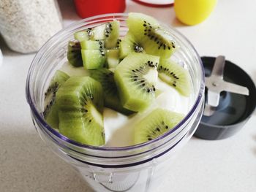
[[[189,70],[192,84],[192,107],[175,128],[158,139],[129,147],[94,147],[82,145],[50,128],[43,119],[44,93],[56,69],[67,62],[67,42],[75,31],[120,20],[121,36],[127,32],[125,14],[99,15],[81,20],[60,31],[39,50],[29,69],[26,97],[37,131],[53,152],[72,165],[94,191],[156,191],[165,178],[171,158],[195,132],[203,112],[204,73],[200,56],[178,31],[164,26],[179,49],[174,61]]]

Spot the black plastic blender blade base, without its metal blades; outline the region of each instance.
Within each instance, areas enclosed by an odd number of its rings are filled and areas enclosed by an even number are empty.
[[[206,77],[211,75],[215,59],[214,57],[202,57]],[[244,126],[255,110],[255,84],[243,69],[230,61],[225,61],[223,80],[248,88],[249,96],[222,91],[216,111],[211,116],[203,115],[195,131],[195,137],[215,140],[233,136]]]

